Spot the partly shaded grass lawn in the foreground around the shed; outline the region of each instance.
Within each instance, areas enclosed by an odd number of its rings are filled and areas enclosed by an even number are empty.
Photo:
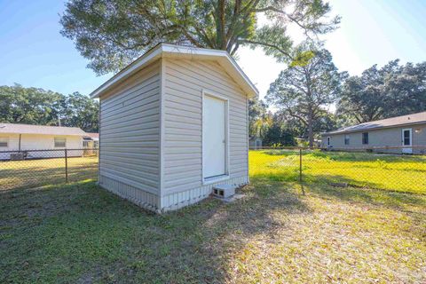
[[[303,196],[250,155],[244,199],[162,216],[92,181],[1,191],[0,282],[426,281],[425,194],[308,182]]]

